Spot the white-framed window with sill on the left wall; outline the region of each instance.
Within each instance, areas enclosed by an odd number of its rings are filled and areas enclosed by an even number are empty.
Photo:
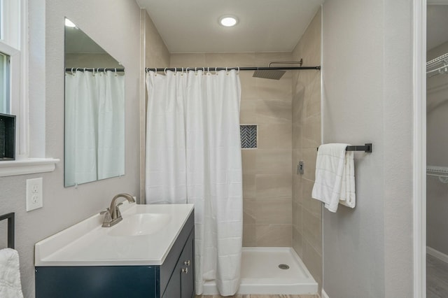
[[[58,159],[31,158],[30,140],[41,139],[34,155],[45,156],[45,120],[29,127],[28,0],[0,0],[0,113],[16,116],[15,159],[0,162],[0,177],[53,171]],[[43,119],[45,115],[42,115]],[[31,129],[31,130],[30,130]],[[31,132],[29,132],[29,130]],[[34,157],[34,156],[33,156]]]

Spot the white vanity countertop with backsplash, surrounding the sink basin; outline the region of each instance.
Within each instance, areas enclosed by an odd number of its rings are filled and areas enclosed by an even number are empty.
[[[35,266],[161,265],[179,236],[193,204],[120,206],[123,221],[102,227],[104,215],[94,215],[34,246]],[[112,236],[128,216],[165,213],[170,220],[157,232],[139,236]]]

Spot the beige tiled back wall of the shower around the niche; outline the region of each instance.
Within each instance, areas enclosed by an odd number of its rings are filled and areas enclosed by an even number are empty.
[[[171,67],[267,66],[290,52],[172,54]],[[258,125],[258,148],[242,150],[243,246],[292,245],[292,73],[281,80],[241,71],[241,124]]]

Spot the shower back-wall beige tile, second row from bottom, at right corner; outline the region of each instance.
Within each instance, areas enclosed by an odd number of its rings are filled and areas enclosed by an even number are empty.
[[[291,198],[256,199],[255,222],[259,224],[292,224]]]

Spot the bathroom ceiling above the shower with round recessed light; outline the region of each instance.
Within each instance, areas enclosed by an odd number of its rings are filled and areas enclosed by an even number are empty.
[[[136,0],[169,52],[290,52],[324,0]],[[235,27],[218,24],[236,15]]]

